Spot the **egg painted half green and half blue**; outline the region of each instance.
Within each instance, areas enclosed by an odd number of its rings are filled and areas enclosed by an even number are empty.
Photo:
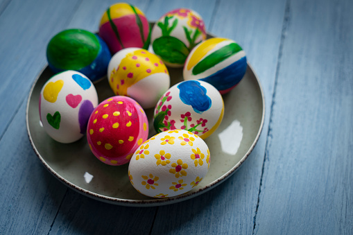
[[[83,29],[61,31],[46,48],[46,58],[54,73],[75,70],[92,82],[106,76],[111,57],[101,37]]]

